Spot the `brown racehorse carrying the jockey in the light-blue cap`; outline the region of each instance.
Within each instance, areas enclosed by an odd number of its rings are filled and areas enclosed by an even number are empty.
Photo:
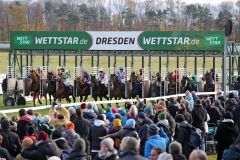
[[[110,99],[113,97],[115,100],[118,98],[125,98],[125,85],[118,79],[115,74],[110,75],[109,83],[110,85]]]

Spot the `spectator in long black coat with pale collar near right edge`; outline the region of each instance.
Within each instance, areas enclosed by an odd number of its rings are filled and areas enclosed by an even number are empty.
[[[218,141],[216,150],[217,150],[217,160],[222,159],[223,151],[228,149],[232,145],[238,136],[238,127],[234,124],[233,115],[231,112],[226,112],[224,120],[219,124],[215,140]]]

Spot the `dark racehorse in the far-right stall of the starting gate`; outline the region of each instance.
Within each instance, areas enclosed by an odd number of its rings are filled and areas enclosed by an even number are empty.
[[[213,79],[213,72],[207,72],[202,80],[206,81],[206,84],[204,85],[204,92],[214,92],[215,91],[215,84]]]

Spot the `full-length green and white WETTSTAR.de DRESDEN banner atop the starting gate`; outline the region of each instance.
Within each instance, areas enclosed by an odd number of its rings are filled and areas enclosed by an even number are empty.
[[[11,49],[223,51],[224,32],[11,32]]]

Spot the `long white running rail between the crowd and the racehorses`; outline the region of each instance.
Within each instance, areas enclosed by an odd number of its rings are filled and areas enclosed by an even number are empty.
[[[228,91],[227,93],[231,93],[233,91]],[[217,92],[199,92],[196,93],[198,96],[203,96],[203,95],[216,95]],[[177,95],[169,95],[169,96],[162,96],[162,97],[153,97],[153,98],[142,98],[140,99],[143,101],[144,99],[146,101],[156,101],[160,99],[168,99],[171,97],[180,97],[180,96],[185,96],[185,94],[177,94]],[[81,102],[81,103],[68,103],[68,104],[61,104],[63,107],[70,107],[73,105],[81,105],[82,103],[95,103],[95,104],[112,104],[112,103],[124,103],[124,102],[136,102],[136,99],[122,99],[122,100],[111,100],[111,101],[96,101],[96,102]],[[29,107],[29,108],[24,108],[25,110],[32,109],[32,110],[43,110],[43,109],[50,109],[51,105],[47,106],[39,106],[39,107]],[[21,108],[22,109],[22,108]],[[17,113],[20,109],[9,109],[9,110],[1,110],[0,113]]]

